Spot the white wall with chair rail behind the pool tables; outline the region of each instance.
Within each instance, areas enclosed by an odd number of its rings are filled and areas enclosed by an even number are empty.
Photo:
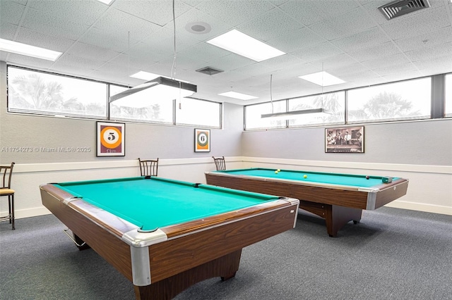
[[[159,175],[205,182],[215,168],[211,156],[225,156],[227,168],[295,168],[410,180],[408,194],[390,206],[452,215],[452,120],[365,125],[364,154],[326,154],[324,128],[243,132],[243,108],[224,106],[224,128],[211,130],[211,152],[194,152],[194,128],[126,123],[126,156],[95,156],[95,120],[6,112],[6,63],[0,62],[0,149],[9,146],[90,146],[88,153],[11,153],[16,216],[48,213],[39,185],[139,175],[136,158],[160,158]],[[7,211],[0,201],[0,213]]]

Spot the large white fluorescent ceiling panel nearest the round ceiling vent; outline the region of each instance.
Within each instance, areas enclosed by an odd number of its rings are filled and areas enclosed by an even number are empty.
[[[209,44],[218,46],[234,54],[239,54],[254,61],[265,61],[268,58],[273,58],[285,54],[285,52],[268,46],[263,42],[245,35],[239,30],[231,30],[224,35],[220,35],[207,41]]]

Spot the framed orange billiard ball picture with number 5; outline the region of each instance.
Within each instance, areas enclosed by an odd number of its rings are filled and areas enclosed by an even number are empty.
[[[97,122],[96,156],[126,155],[126,124]]]

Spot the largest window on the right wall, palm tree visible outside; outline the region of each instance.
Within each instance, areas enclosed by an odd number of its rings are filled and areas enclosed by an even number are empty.
[[[347,97],[350,123],[430,118],[432,78],[351,89]]]

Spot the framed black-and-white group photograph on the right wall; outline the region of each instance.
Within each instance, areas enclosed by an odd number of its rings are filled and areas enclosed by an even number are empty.
[[[326,153],[364,153],[364,126],[325,129]]]

